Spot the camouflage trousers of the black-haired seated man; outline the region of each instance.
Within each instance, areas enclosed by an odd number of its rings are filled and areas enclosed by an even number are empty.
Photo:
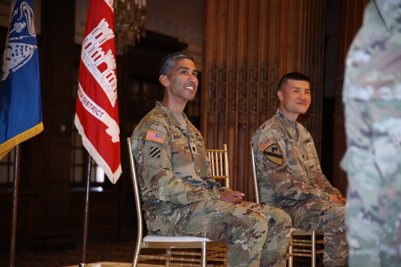
[[[311,230],[324,232],[323,263],[325,266],[347,265],[348,245],[345,236],[344,204],[321,199],[307,199],[290,200],[287,203],[280,203],[280,207],[291,216],[294,228],[307,232]]]

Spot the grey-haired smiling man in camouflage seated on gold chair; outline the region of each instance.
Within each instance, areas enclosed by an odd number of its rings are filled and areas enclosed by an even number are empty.
[[[189,54],[166,56],[159,78],[165,96],[132,135],[148,230],[225,242],[229,266],[285,266],[289,216],[244,202],[244,194],[208,175],[203,137],[183,113],[195,96],[196,75]]]

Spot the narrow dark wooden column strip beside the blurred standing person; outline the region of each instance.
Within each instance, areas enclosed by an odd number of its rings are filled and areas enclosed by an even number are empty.
[[[342,84],[344,80],[344,62],[348,48],[362,24],[363,10],[369,0],[342,1],[341,30],[338,57],[338,84],[334,110],[334,141],[333,141],[333,185],[345,194],[347,192],[347,174],[339,167],[340,161],[347,150],[345,145],[344,114],[342,106]]]

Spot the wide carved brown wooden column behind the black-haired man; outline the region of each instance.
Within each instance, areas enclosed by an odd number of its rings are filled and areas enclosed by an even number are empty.
[[[228,144],[232,189],[253,200],[249,141],[274,115],[282,75],[311,78],[302,118],[321,144],[324,1],[205,1],[201,130],[208,148]]]

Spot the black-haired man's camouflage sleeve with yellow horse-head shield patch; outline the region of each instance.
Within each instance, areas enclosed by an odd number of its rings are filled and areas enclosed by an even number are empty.
[[[303,166],[291,163],[286,155],[286,143],[279,132],[270,129],[272,138],[270,146],[262,150],[259,143],[252,142],[253,151],[256,151],[256,164],[262,176],[266,178],[271,188],[279,195],[296,200],[319,198],[330,200],[330,194],[307,183],[309,180],[303,171]],[[271,151],[269,151],[271,150]],[[278,159],[272,154],[276,153]]]

